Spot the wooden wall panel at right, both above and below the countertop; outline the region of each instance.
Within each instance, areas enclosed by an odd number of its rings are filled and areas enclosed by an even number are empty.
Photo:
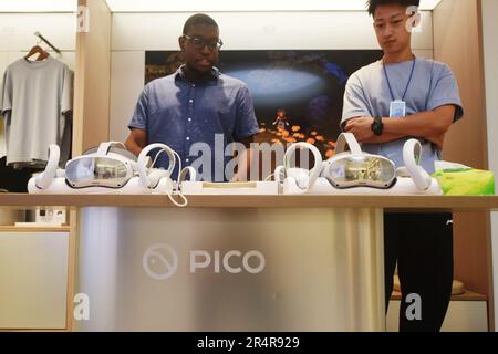
[[[452,66],[465,108],[464,119],[447,135],[444,158],[487,169],[480,17],[480,0],[443,0],[433,14],[434,58]],[[455,278],[491,300],[489,214],[455,214],[454,229]]]

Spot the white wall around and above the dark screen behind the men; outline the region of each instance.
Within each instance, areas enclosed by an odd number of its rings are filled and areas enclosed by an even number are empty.
[[[145,51],[177,50],[191,13],[114,13],[111,72],[111,139],[124,140],[144,86]],[[217,12],[224,50],[378,49],[366,12]],[[433,58],[432,12],[415,34],[416,54]],[[222,53],[221,53],[222,55]]]

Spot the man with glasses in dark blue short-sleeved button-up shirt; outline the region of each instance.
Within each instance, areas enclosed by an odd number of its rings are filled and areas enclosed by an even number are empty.
[[[176,73],[145,86],[128,125],[132,132],[126,147],[138,155],[146,145],[164,143],[179,154],[185,167],[203,158],[198,156],[198,143],[204,143],[210,150],[210,166],[201,164],[198,173],[203,179],[232,179],[225,175],[225,166],[231,159],[225,147],[235,142],[249,147],[253,142],[259,128],[252,98],[243,82],[215,67],[222,45],[215,20],[201,13],[190,17],[178,42],[185,64]],[[247,155],[241,155],[239,174],[247,174]],[[164,154],[158,164],[167,166]]]

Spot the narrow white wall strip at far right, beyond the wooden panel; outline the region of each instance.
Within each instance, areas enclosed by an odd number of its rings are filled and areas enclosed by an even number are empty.
[[[486,75],[489,168],[498,176],[498,1],[483,0],[483,37]],[[495,154],[494,154],[495,153]],[[492,218],[495,329],[498,329],[498,212]]]

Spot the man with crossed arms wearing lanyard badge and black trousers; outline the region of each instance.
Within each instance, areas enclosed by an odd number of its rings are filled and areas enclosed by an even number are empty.
[[[341,127],[363,143],[363,149],[403,166],[403,146],[418,138],[422,165],[434,173],[440,159],[445,134],[464,110],[450,69],[415,58],[412,29],[417,25],[419,0],[370,0],[381,61],[355,72],[344,94]],[[439,331],[446,315],[453,283],[453,230],[450,215],[384,216],[386,308],[398,266],[402,290],[401,331]],[[416,294],[422,319],[407,319]]]

